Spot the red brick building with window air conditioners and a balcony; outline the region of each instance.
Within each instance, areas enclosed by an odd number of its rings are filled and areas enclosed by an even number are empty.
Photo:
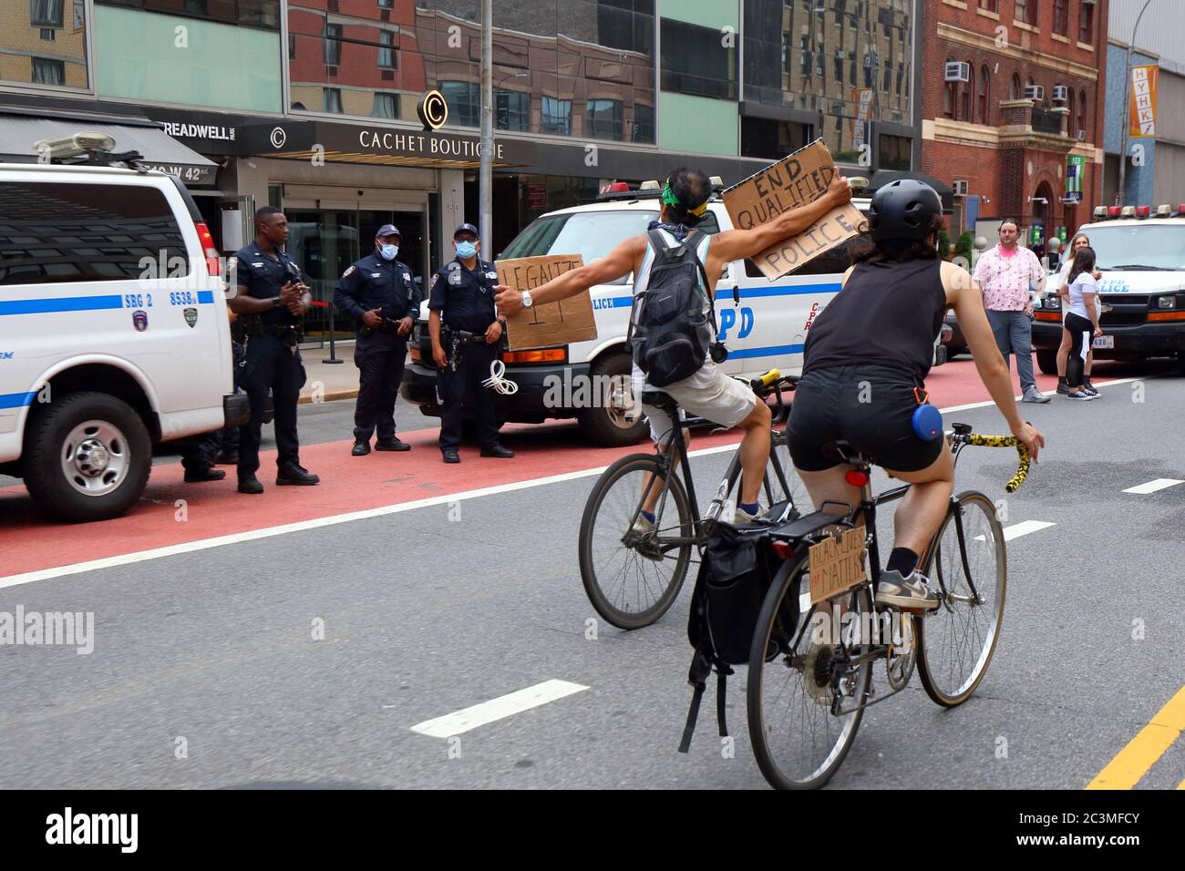
[[[1108,2],[927,4],[922,171],[960,194],[952,238],[1010,217],[1032,246],[1102,203]]]

